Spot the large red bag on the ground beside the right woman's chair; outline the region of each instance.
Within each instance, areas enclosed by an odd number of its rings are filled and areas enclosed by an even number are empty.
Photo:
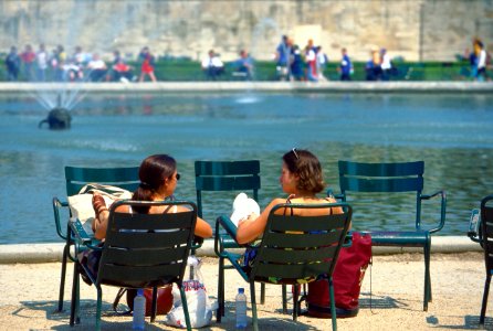
[[[353,243],[349,247],[340,248],[333,274],[337,318],[358,314],[359,291],[370,259],[371,236],[353,232]],[[306,300],[308,316],[331,318],[327,279],[308,282],[308,293],[301,300]]]

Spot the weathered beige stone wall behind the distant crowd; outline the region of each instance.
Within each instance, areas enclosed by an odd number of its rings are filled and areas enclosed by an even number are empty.
[[[493,0],[15,0],[0,1],[0,50],[49,50],[63,44],[136,56],[144,45],[157,55],[200,58],[209,49],[223,60],[248,49],[271,58],[282,34],[300,46],[307,39],[338,60],[345,46],[367,60],[373,46],[406,60],[452,61],[480,36],[493,49]]]

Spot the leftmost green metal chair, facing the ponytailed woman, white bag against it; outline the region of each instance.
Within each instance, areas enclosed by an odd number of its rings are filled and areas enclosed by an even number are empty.
[[[88,183],[111,184],[128,191],[134,191],[139,184],[138,167],[127,168],[81,168],[81,167],[65,167],[65,183],[66,196],[77,194],[81,189]],[[65,211],[65,212],[63,212]],[[70,214],[69,202],[61,201],[59,197],[53,197],[53,214],[55,218],[55,227],[59,236],[65,242],[62,256],[62,271],[60,277],[60,292],[59,292],[59,311],[63,310],[63,296],[65,288],[65,273],[67,259],[75,260],[71,255],[71,246],[73,238],[69,233],[69,217],[66,223],[62,224],[62,214]]]

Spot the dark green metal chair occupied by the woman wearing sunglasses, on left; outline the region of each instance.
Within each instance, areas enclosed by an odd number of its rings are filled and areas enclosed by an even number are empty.
[[[183,205],[186,212],[136,214],[119,213],[115,210],[122,205],[129,205],[133,210],[138,206],[175,206]],[[187,259],[193,243],[193,231],[197,222],[197,206],[188,201],[117,201],[112,204],[108,216],[108,227],[103,247],[92,247],[101,252],[97,270],[80,263],[74,264],[72,285],[70,324],[78,323],[80,308],[80,274],[84,274],[97,289],[97,309],[95,329],[101,329],[101,310],[103,300],[102,285],[125,288],[153,288],[153,310],[150,321],[156,318],[157,287],[176,284],[180,290],[187,330],[191,330],[188,314],[187,297],[181,286],[183,281]],[[71,222],[74,234],[75,253],[85,249],[87,237],[81,235],[77,222]]]

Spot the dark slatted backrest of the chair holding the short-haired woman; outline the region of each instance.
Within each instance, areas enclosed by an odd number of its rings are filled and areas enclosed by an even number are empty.
[[[342,206],[344,213],[332,214],[331,207],[334,206]],[[323,215],[296,215],[296,210],[308,209],[319,210]],[[276,214],[279,210],[283,214]],[[332,276],[352,213],[352,207],[346,203],[274,206],[269,215],[250,279],[268,280],[274,277],[293,280],[324,274]]]

